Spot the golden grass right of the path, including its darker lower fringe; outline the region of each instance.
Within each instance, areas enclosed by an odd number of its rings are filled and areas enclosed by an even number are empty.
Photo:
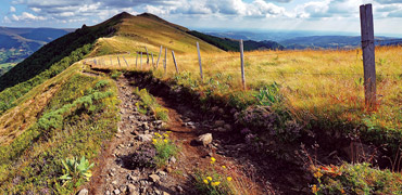
[[[364,125],[367,128],[362,131],[367,141],[384,143],[402,138],[400,51],[400,47],[376,49],[379,96],[374,113],[364,105],[361,50],[246,52],[247,91],[241,91],[239,53],[201,53],[203,81],[194,52],[176,55],[179,75],[175,74],[172,57],[167,57],[167,75],[161,69],[161,62],[153,74],[200,91],[201,98],[217,96],[239,108],[257,104],[254,95],[260,89],[277,83],[286,112],[310,129],[331,131]],[[126,58],[129,67],[123,69],[136,69],[135,56]],[[120,68],[115,64],[104,67]],[[143,65],[146,69],[152,67]]]

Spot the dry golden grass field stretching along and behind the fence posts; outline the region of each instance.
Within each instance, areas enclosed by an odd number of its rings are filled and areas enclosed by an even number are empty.
[[[158,55],[154,54],[154,62]],[[172,53],[167,53],[167,76],[175,75]],[[205,80],[221,73],[233,78],[231,90],[241,89],[239,53],[201,53]],[[101,56],[104,68],[136,69],[136,57],[125,56],[128,67],[116,56]],[[361,50],[349,51],[254,51],[246,52],[246,79],[249,90],[273,83],[280,84],[286,104],[301,120],[326,118],[328,120],[362,120],[366,118],[364,105],[363,63]],[[110,62],[112,57],[112,63]],[[164,58],[164,53],[161,58]],[[180,72],[192,73],[199,79],[199,65],[196,52],[176,54]],[[142,69],[151,69],[142,56]],[[151,60],[150,60],[151,62]],[[140,69],[138,57],[137,69]],[[159,63],[161,70],[163,61]],[[376,49],[378,110],[374,122],[389,129],[401,129],[402,107],[402,50],[401,47]],[[161,70],[162,72],[162,70]],[[215,91],[215,93],[222,93]]]

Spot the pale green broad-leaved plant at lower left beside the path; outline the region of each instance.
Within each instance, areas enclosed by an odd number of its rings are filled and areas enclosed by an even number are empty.
[[[75,186],[79,186],[83,182],[89,181],[92,173],[89,169],[93,167],[93,164],[89,164],[89,160],[83,156],[78,161],[78,158],[66,158],[62,160],[63,164],[63,176],[60,180],[65,181],[64,184],[73,183]]]

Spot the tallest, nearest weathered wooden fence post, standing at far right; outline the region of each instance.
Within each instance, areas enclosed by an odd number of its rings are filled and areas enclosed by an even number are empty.
[[[376,61],[374,46],[374,23],[372,4],[360,6],[360,20],[362,30],[363,69],[364,69],[364,94],[368,108],[376,105]]]

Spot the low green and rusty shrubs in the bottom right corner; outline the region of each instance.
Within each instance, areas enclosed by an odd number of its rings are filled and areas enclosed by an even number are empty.
[[[314,194],[402,194],[402,174],[372,168],[368,164],[343,164],[312,169],[318,181]]]

